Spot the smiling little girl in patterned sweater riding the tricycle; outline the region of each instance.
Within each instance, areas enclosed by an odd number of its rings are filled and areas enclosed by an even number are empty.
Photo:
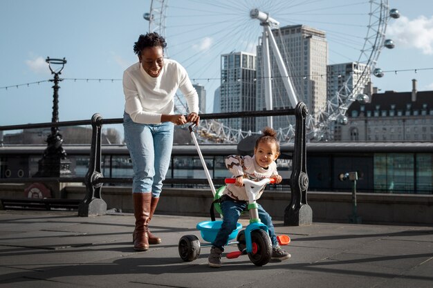
[[[221,253],[224,251],[224,245],[228,241],[228,236],[236,229],[237,221],[242,211],[248,206],[248,197],[245,187],[243,187],[243,178],[259,181],[264,178],[273,178],[275,183],[282,182],[282,177],[278,175],[277,164],[275,160],[279,156],[279,142],[275,137],[277,133],[273,128],[264,128],[263,135],[257,139],[254,156],[230,155],[225,158],[225,166],[236,177],[235,184],[227,184],[223,195],[221,196],[221,211],[223,212],[223,224],[219,229],[215,241],[210,249],[208,258],[210,267],[221,267]],[[260,198],[265,187],[257,195]],[[261,205],[258,205],[259,218],[262,223],[268,227],[268,233],[272,242],[273,260],[286,260],[291,257],[289,253],[281,249],[275,236],[272,218]]]

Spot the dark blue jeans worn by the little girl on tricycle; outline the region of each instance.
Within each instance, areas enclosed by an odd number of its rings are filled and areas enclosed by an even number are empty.
[[[245,211],[248,203],[247,202],[234,202],[231,200],[225,200],[221,202],[221,211],[223,212],[223,224],[221,224],[221,228],[216,234],[215,241],[212,243],[212,246],[217,247],[224,251],[224,245],[228,242],[228,236],[234,229],[236,229],[237,220],[241,216],[241,212]],[[259,218],[263,224],[268,227],[268,233],[270,236],[270,241],[272,242],[272,246],[275,247],[278,245],[277,236],[275,236],[274,225],[272,224],[272,218],[268,214],[268,212],[258,204],[259,210]]]

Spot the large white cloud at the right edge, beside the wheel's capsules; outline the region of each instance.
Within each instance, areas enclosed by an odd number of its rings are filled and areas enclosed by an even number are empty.
[[[409,20],[400,17],[387,27],[387,36],[397,46],[420,49],[425,55],[433,55],[433,16],[420,16]]]

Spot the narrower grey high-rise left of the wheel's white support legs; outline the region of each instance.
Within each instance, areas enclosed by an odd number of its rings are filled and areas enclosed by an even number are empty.
[[[221,55],[221,113],[256,108],[256,56],[248,52]],[[255,131],[255,118],[222,119],[230,128]]]

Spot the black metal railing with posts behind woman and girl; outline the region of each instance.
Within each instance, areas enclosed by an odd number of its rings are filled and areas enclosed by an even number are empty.
[[[284,224],[300,225],[312,222],[311,208],[308,206],[306,193],[308,190],[308,175],[306,173],[306,115],[308,109],[302,102],[295,108],[273,111],[246,111],[236,113],[210,113],[200,115],[201,119],[229,119],[239,117],[269,117],[294,115],[296,119],[295,138],[293,148],[292,173],[284,184],[291,186],[291,202],[284,211]],[[103,184],[131,183],[131,178],[104,177],[101,164],[102,126],[106,124],[121,124],[122,118],[104,119],[100,114],[93,115],[91,120],[0,126],[0,131],[11,131],[28,128],[51,128],[58,126],[91,125],[91,153],[89,169],[84,177],[32,177],[0,179],[0,183],[26,182],[84,182],[86,195],[78,208],[79,216],[101,215],[106,213],[107,204],[102,199]],[[167,178],[165,184],[208,184],[206,179]],[[215,179],[214,184],[224,184],[223,179]]]

